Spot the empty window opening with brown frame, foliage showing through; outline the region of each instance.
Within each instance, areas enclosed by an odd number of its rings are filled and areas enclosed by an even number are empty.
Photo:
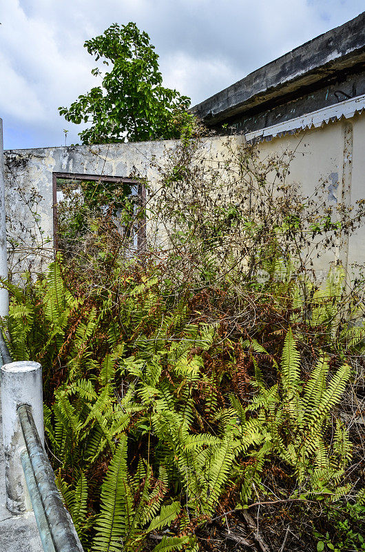
[[[145,244],[144,208],[145,186],[136,179],[54,172],[54,248],[66,255],[86,250],[94,219],[112,223],[125,255],[136,255]]]

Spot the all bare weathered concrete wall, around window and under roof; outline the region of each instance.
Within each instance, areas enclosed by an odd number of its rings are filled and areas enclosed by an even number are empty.
[[[236,147],[242,137],[230,139]],[[227,137],[205,139],[200,158],[227,155]],[[258,144],[261,159],[271,153],[290,150],[292,161],[287,180],[313,195],[324,184],[328,204],[351,203],[365,197],[365,113],[335,121],[322,128],[276,137]],[[13,274],[25,269],[44,270],[52,258],[52,172],[143,177],[152,190],[158,188],[158,168],[165,164],[176,141],[138,144],[72,146],[11,150],[5,153],[6,204],[10,268]],[[154,233],[152,228],[150,233]],[[341,258],[345,263],[365,262],[362,231],[349,244],[339,244],[316,261],[316,268],[328,269]]]

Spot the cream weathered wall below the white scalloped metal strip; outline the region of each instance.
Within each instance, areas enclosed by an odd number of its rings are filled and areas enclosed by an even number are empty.
[[[365,198],[365,114],[275,137],[258,148],[263,159],[271,152],[293,152],[288,180],[298,182],[306,195],[323,183],[328,205],[351,205]],[[350,277],[358,273],[354,264],[365,263],[364,227],[322,254],[316,268],[327,271],[336,259],[341,259]]]

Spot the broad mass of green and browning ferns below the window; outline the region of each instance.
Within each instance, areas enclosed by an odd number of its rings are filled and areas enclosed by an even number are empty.
[[[192,323],[185,300],[165,301],[156,277],[133,270],[116,268],[110,286],[96,286],[84,300],[67,289],[56,260],[36,285],[36,302],[14,294],[9,319],[19,354],[32,355],[32,337],[39,336],[45,390],[52,386],[45,431],[86,548],[142,551],[151,548],[152,532],[171,528],[155,550],[195,552],[196,539],[185,536],[191,526],[234,495],[247,504],[267,494],[271,464],[296,482],[293,496],[340,497],[352,447],[340,420],[329,430],[350,368],[330,369],[328,355],[317,350],[304,383],[291,329],[278,365],[255,339],[222,339],[215,327]],[[311,315],[317,308],[315,317],[325,315],[330,325],[328,297],[338,299],[340,288],[325,293],[313,291]],[[295,305],[301,322],[308,303],[298,295]],[[355,342],[362,333],[352,335]],[[247,373],[252,365],[255,372],[244,399],[231,386],[248,359],[242,347],[252,361]],[[271,386],[262,359],[278,372]],[[59,372],[63,381],[54,383]]]

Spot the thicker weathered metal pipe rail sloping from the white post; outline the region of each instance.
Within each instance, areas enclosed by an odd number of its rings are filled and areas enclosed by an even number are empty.
[[[54,549],[56,552],[83,552],[54,482],[54,472],[36,431],[32,409],[22,404],[17,412]]]

